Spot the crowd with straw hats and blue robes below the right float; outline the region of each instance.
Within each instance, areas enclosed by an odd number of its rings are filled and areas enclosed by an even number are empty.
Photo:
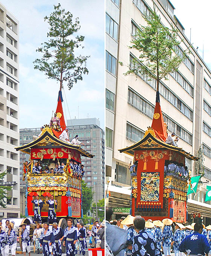
[[[171,219],[145,221],[141,216],[128,215],[118,220],[112,219],[112,209],[106,208],[106,255],[133,256],[170,256],[171,250],[175,256],[211,255],[211,225],[205,227],[202,223],[173,223]],[[109,225],[118,228],[111,229]],[[110,236],[122,233],[119,248],[115,248]],[[111,230],[113,233],[111,234]],[[115,250],[115,253],[113,253]]]

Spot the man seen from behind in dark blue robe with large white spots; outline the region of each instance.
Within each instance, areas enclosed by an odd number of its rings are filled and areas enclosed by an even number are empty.
[[[134,227],[137,235],[134,237],[133,256],[161,256],[161,251],[156,248],[154,237],[145,231],[145,220],[141,216],[136,216]]]

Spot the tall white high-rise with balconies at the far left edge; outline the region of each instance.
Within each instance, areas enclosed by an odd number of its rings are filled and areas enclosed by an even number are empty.
[[[8,192],[1,218],[20,217],[19,153],[19,27],[18,20],[0,4],[0,172],[16,182]]]

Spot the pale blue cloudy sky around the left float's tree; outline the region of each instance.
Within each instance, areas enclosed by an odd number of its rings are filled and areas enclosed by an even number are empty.
[[[64,83],[67,102],[63,103],[64,116],[99,118],[104,127],[104,1],[96,0],[1,0],[1,3],[19,20],[19,105],[20,129],[49,124],[55,112],[59,84],[47,79],[34,69],[33,61],[40,58],[36,49],[47,40],[48,23],[44,17],[54,11],[58,3],[73,18],[79,17],[79,34],[85,36],[84,48],[78,54],[90,55],[88,75],[68,90]],[[63,95],[63,98],[64,95]],[[69,111],[67,109],[69,107]],[[65,115],[66,112],[66,115]],[[70,113],[70,114],[69,114]]]

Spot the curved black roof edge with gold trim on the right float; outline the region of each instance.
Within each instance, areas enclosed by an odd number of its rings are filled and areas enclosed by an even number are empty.
[[[144,138],[140,141],[132,144],[131,146],[125,147],[123,149],[118,149],[120,153],[124,152],[125,154],[134,156],[135,150],[147,150],[147,149],[170,149],[182,154],[184,157],[197,161],[199,158],[194,157],[190,153],[182,149],[182,147],[175,147],[173,145],[167,144],[159,140],[153,128],[148,127],[148,130],[144,134]]]

